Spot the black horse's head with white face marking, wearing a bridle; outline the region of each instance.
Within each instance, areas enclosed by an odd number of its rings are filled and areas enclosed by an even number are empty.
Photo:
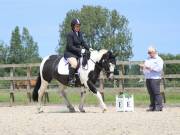
[[[112,54],[111,51],[106,51],[101,57],[99,61],[102,69],[104,69],[107,78],[113,79],[114,77],[114,68],[116,65],[115,56]]]

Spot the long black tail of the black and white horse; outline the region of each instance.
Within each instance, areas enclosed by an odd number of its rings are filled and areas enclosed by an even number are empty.
[[[37,81],[36,81],[36,85],[33,90],[33,101],[36,101],[36,102],[38,101],[38,91],[39,91],[40,86],[41,86],[41,76],[39,73]]]

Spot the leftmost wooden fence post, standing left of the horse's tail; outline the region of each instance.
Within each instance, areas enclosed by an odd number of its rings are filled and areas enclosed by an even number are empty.
[[[14,67],[10,68],[10,77],[13,78],[14,76]],[[12,104],[15,101],[15,97],[14,97],[14,80],[11,80],[11,89],[10,89],[10,106],[12,106]]]

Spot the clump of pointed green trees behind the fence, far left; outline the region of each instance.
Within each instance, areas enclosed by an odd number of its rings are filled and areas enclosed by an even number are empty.
[[[19,27],[12,31],[10,46],[0,42],[0,63],[34,63],[40,62],[37,42],[34,42],[27,28],[23,28],[22,36]],[[33,68],[32,73],[37,73],[38,69]],[[0,69],[0,76],[9,74],[9,69]],[[16,69],[16,74],[26,74],[25,68]]]

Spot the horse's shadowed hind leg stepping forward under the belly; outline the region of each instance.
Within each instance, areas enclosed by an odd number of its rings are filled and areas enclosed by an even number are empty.
[[[66,95],[66,92],[64,91],[66,88],[65,85],[60,85],[59,86],[59,92],[61,94],[61,96],[64,98],[64,101],[65,101],[65,104],[67,105],[67,108],[69,109],[69,112],[75,112],[75,109],[74,107],[72,106],[72,104],[69,102],[68,98],[67,98],[67,95]]]

